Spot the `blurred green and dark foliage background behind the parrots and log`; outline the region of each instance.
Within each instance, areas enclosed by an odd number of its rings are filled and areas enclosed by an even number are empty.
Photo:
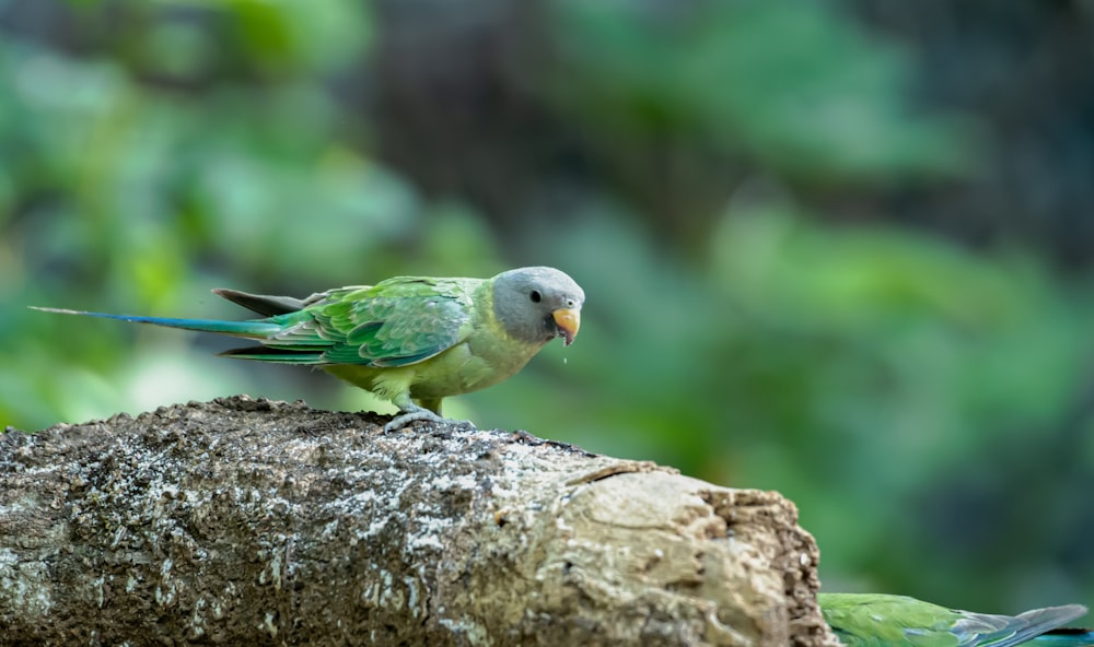
[[[828,590],[1094,605],[1092,36],[1024,0],[0,0],[0,423],[376,405],[27,305],[551,264],[578,342],[450,415],[779,490]]]

